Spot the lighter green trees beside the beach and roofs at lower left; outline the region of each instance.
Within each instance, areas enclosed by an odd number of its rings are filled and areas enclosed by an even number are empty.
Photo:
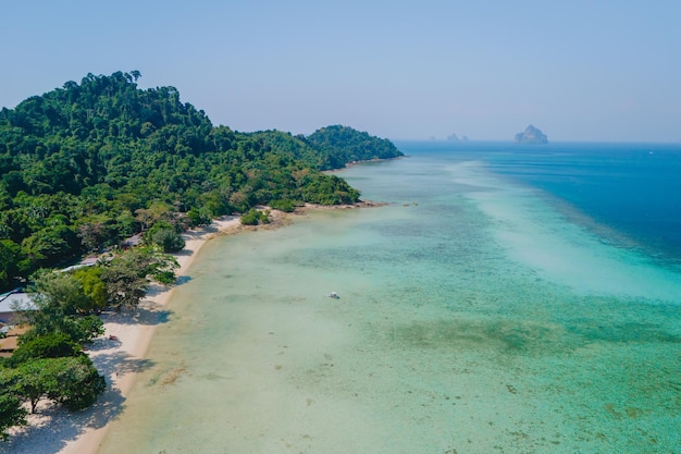
[[[26,331],[13,354],[0,357],[0,440],[27,425],[41,401],[70,412],[97,402],[107,383],[85,349],[104,332],[99,314],[135,309],[151,281],[175,281],[177,266],[147,245],[109,253],[91,267],[36,272],[27,289],[34,308],[18,307]]]

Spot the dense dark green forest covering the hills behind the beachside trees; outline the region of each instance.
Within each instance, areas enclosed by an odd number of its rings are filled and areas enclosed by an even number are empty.
[[[258,205],[355,203],[322,171],[401,156],[346,126],[213,126],[177,89],[139,89],[139,77],[88,74],[0,111],[0,290],[139,232],[176,246],[183,230]]]

